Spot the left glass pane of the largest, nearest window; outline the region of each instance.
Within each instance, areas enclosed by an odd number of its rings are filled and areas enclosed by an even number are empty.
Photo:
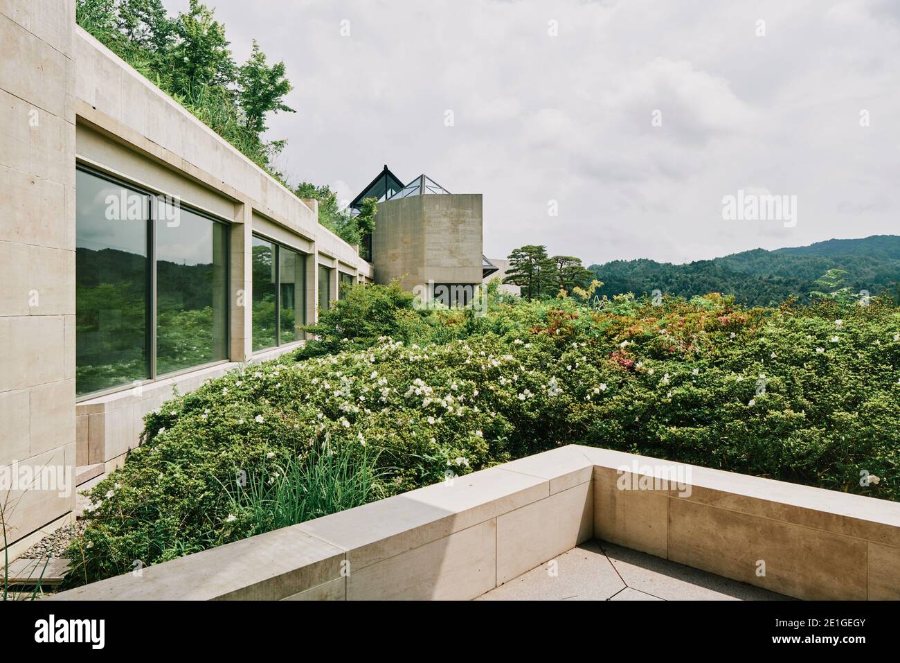
[[[76,391],[150,377],[150,199],[76,173]]]

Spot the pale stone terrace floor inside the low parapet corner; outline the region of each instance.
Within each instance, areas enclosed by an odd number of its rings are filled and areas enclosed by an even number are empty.
[[[633,549],[590,540],[492,589],[477,600],[779,601],[760,587],[685,567]]]

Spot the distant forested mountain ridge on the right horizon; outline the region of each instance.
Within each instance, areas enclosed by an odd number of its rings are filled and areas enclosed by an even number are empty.
[[[654,289],[684,297],[718,292],[734,295],[741,304],[761,306],[779,304],[791,295],[809,301],[810,291],[818,289],[815,279],[832,268],[847,272],[843,285],[852,292],[868,290],[900,303],[900,237],[896,235],[754,249],[685,265],[637,259],[590,266],[604,284],[599,295],[650,295]]]

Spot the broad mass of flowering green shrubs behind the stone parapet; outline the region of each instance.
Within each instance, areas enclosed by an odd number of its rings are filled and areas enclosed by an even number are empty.
[[[577,442],[900,499],[900,312],[882,301],[565,297],[476,317],[407,296],[354,286],[318,350],[148,414],[144,444],[91,493],[73,581],[259,531],[223,486],[322,444],[377,458],[372,495]]]

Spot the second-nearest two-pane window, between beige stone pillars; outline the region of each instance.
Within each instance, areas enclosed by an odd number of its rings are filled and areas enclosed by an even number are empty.
[[[306,323],[306,256],[253,238],[253,350],[299,341]]]

